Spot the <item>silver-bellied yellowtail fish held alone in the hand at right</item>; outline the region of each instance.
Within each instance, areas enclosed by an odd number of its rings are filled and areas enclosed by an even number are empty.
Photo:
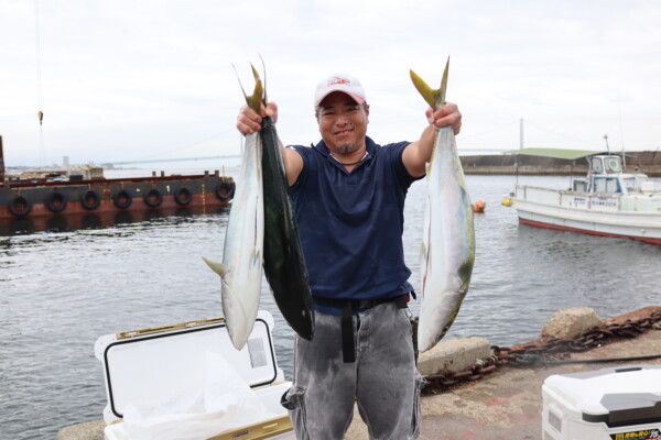
[[[436,110],[445,103],[447,70],[441,88],[430,88],[413,70],[411,79]],[[475,261],[473,210],[452,127],[437,129],[426,167],[424,230],[421,249],[422,302],[418,349],[427,351],[449,329],[468,290]]]

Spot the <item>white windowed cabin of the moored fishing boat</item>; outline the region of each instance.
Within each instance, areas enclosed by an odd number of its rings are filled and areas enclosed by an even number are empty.
[[[587,157],[587,178],[577,178],[572,189],[581,193],[606,193],[628,195],[646,189],[648,176],[644,174],[624,174],[620,156],[598,154]]]

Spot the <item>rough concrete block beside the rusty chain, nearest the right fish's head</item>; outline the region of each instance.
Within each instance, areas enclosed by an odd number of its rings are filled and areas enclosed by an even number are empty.
[[[420,353],[418,370],[423,376],[441,372],[460,372],[478,360],[491,356],[491,344],[484,338],[449,339]]]

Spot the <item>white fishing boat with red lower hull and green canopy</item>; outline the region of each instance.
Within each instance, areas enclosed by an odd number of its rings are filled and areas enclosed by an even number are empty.
[[[661,244],[659,183],[644,174],[624,173],[620,156],[540,148],[517,154],[585,157],[588,162],[587,176],[573,178],[568,189],[516,185],[510,200],[520,223]]]

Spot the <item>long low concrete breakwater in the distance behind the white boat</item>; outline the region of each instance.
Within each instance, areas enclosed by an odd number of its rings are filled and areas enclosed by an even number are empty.
[[[625,172],[661,177],[661,151],[627,152],[625,158]],[[587,174],[585,157],[564,160],[530,155],[486,154],[460,156],[460,161],[464,173],[475,175],[581,176]]]

